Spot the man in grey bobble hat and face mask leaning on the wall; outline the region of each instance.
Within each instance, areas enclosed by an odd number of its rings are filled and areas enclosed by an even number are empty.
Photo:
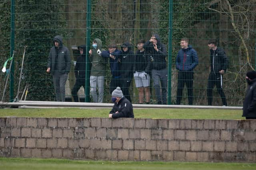
[[[109,118],[119,118],[119,117],[130,117],[134,118],[132,104],[129,100],[127,100],[120,87],[117,87],[112,92],[112,102],[114,102],[114,106],[112,110],[109,112]]]

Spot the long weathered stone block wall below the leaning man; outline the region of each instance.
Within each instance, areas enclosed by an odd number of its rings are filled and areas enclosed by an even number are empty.
[[[2,117],[0,156],[256,162],[256,121]]]

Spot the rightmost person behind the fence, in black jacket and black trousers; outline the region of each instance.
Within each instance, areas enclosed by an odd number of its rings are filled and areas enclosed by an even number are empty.
[[[227,106],[226,96],[223,92],[223,74],[228,68],[228,57],[222,48],[217,47],[215,40],[210,40],[208,42],[208,47],[210,49],[211,66],[207,85],[208,105],[212,105],[212,89],[214,88],[214,85],[216,85],[223,106]]]

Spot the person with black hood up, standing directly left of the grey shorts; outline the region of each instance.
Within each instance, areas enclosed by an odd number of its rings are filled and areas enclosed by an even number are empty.
[[[125,42],[121,46],[122,52],[120,54],[121,62],[121,81],[122,81],[122,92],[124,96],[132,102],[129,93],[129,87],[132,82],[132,73],[133,73],[133,62],[134,62],[134,52],[132,50],[132,44]]]

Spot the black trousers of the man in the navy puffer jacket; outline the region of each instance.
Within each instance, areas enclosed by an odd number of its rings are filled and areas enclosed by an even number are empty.
[[[182,100],[182,91],[185,84],[188,90],[188,104],[193,104],[193,74],[194,72],[179,71],[176,104],[180,104]]]

